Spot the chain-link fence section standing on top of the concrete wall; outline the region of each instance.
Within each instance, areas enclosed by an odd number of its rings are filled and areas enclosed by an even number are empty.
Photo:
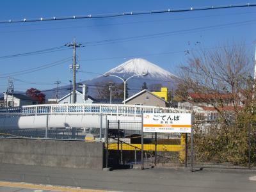
[[[20,118],[23,117],[23,118]],[[25,117],[25,118],[24,118]],[[32,116],[30,116],[32,117]],[[68,124],[58,127],[53,127],[48,124],[48,121],[53,122],[54,118],[58,116],[42,116],[42,120],[38,127],[33,128],[22,125],[19,127],[19,120],[26,120],[28,115],[14,114],[14,115],[0,115],[0,138],[46,138],[54,140],[85,140],[85,141],[104,141],[106,132],[106,116],[100,116],[99,122],[93,127],[69,127]],[[34,118],[34,117],[33,117]],[[72,117],[71,117],[72,118]],[[90,116],[84,115],[84,118]],[[103,122],[104,121],[104,122]],[[33,123],[33,119],[29,118],[28,124]]]

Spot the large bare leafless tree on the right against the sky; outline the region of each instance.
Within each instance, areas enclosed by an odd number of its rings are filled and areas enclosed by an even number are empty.
[[[244,99],[243,90],[252,75],[252,61],[243,45],[225,44],[215,51],[194,52],[188,63],[181,66],[180,85],[202,97],[207,95],[202,98],[204,102],[222,116],[227,100],[230,101],[237,115]]]

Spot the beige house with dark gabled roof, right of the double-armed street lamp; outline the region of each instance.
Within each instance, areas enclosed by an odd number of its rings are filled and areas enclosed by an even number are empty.
[[[163,108],[165,108],[166,104],[168,104],[166,100],[155,95],[152,92],[149,92],[148,90],[142,90],[141,92],[132,95],[132,97],[129,97],[125,100],[125,103],[131,105],[157,106]]]

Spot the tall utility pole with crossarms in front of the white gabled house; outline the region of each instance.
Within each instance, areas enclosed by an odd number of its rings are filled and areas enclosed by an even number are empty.
[[[76,69],[79,65],[76,63],[76,47],[83,47],[81,44],[77,44],[76,40],[73,40],[71,44],[65,44],[67,47],[73,47],[73,63],[69,66],[73,70],[73,98],[72,103],[76,103]]]

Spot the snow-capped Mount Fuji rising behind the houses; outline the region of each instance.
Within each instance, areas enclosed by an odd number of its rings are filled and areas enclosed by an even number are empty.
[[[142,76],[142,74],[146,74],[147,76]],[[127,79],[131,76],[141,74],[141,76],[132,77],[127,81],[127,86],[129,88],[129,96],[134,95],[135,93],[140,92],[141,86],[144,82],[147,83],[147,87],[150,90],[150,87],[153,85],[158,84],[161,86],[166,86],[169,90],[175,89],[177,81],[179,77],[175,76],[174,74],[164,70],[163,68],[157,66],[154,63],[151,63],[142,58],[134,58],[125,63],[118,65],[108,72],[105,72],[107,76],[109,74],[121,77],[122,79]],[[121,79],[113,76],[98,76],[91,80],[82,81],[79,83],[87,84],[88,85],[88,92],[89,95],[92,97],[97,97],[97,85],[105,84],[108,82],[113,82],[116,84],[122,83]],[[63,86],[59,90],[59,98],[63,97],[64,95],[68,94],[69,86]],[[79,90],[79,88],[77,88]],[[47,98],[54,98],[56,97],[56,90],[52,90],[52,92],[45,92]]]

